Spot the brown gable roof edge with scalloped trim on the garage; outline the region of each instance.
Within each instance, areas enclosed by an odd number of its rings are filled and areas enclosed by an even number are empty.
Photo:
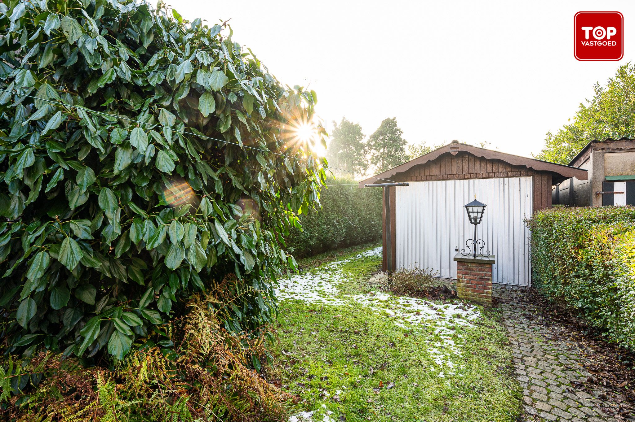
[[[501,160],[511,165],[525,166],[528,169],[541,172],[552,172],[553,182],[559,182],[570,177],[575,177],[578,180],[587,180],[587,170],[578,169],[577,167],[571,167],[570,165],[556,164],[548,161],[537,160],[536,158],[520,157],[519,155],[512,155],[502,153],[500,151],[486,150],[485,148],[478,148],[476,146],[458,143],[458,141],[452,141],[450,144],[437,148],[421,157],[414,158],[409,162],[392,167],[392,169],[386,170],[379,174],[375,174],[373,177],[368,177],[361,182],[360,186],[364,184],[385,183],[400,173],[407,172],[416,165],[425,164],[436,160],[441,155],[450,153],[451,155],[457,155],[459,151],[465,151],[476,157],[483,157],[489,160]]]

